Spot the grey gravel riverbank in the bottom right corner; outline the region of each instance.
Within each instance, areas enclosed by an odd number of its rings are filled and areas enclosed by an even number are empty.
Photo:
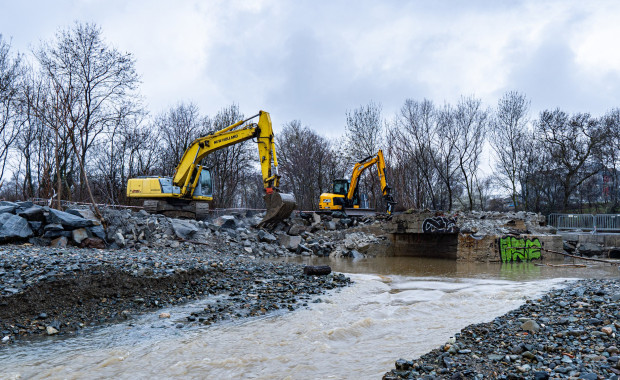
[[[573,282],[397,360],[383,379],[617,379],[619,301],[618,280]]]

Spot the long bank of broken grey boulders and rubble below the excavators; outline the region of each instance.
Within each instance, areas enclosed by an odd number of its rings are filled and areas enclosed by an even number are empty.
[[[342,213],[296,213],[287,221],[259,229],[255,211],[212,215],[205,220],[168,218],[144,210],[102,209],[99,220],[88,208],[66,211],[32,202],[0,202],[0,242],[29,243],[65,248],[158,249],[202,244],[214,252],[254,257],[372,255],[370,247],[385,238],[363,232],[375,218],[347,217]]]

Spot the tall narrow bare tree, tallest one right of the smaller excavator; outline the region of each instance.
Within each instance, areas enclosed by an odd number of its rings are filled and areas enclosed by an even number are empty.
[[[490,126],[490,142],[495,152],[495,169],[501,183],[507,184],[515,210],[520,207],[519,173],[522,171],[527,136],[530,102],[525,95],[511,91],[497,104]]]

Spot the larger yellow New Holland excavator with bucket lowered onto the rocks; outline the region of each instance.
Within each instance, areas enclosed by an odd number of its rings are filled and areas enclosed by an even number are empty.
[[[258,117],[257,123],[247,123]],[[238,128],[242,126],[241,128]],[[295,197],[281,193],[273,128],[269,113],[258,114],[194,140],[183,153],[173,177],[138,177],[127,182],[127,197],[144,199],[144,209],[171,217],[204,219],[213,200],[211,173],[200,165],[210,153],[256,139],[265,187],[267,213],[259,225],[286,219],[295,209]]]

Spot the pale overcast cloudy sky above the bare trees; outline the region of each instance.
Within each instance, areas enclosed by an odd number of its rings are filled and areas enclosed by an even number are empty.
[[[28,53],[75,21],[134,55],[147,108],[203,114],[236,103],[323,135],[370,101],[391,118],[405,99],[494,106],[524,92],[532,114],[620,106],[618,1],[15,1],[0,34]]]

